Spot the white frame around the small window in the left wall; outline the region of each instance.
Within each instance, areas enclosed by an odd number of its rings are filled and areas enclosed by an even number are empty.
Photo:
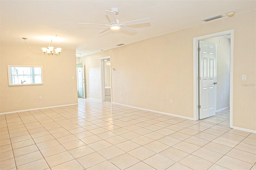
[[[10,67],[30,67],[31,68],[35,68],[35,67],[40,67],[41,68],[41,82],[42,83],[30,83],[30,84],[12,84],[11,82],[11,77],[13,75],[11,75],[10,73]],[[8,86],[20,86],[20,85],[43,85],[43,66],[42,65],[7,65],[7,71],[8,71]],[[30,76],[33,76],[31,77],[31,79],[35,79],[35,73],[34,71],[33,72],[30,72]]]

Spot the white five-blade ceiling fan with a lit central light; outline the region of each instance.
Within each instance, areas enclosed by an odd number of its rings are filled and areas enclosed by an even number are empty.
[[[106,14],[108,15],[108,18],[110,20],[110,24],[91,24],[91,23],[78,23],[78,24],[90,24],[90,25],[102,25],[102,26],[109,26],[108,29],[100,32],[104,33],[108,30],[124,30],[124,31],[128,31],[128,32],[136,32],[137,30],[134,28],[129,28],[126,26],[130,26],[130,25],[136,25],[136,24],[144,24],[144,23],[149,23],[150,22],[150,18],[143,18],[143,19],[139,19],[139,20],[132,20],[132,21],[127,21],[127,22],[119,22],[118,19],[116,19],[116,15],[118,15],[118,8],[111,8],[110,11],[109,10],[105,10]]]

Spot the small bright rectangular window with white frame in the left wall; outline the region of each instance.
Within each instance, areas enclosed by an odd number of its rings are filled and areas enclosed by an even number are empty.
[[[42,66],[8,65],[9,85],[43,84]]]

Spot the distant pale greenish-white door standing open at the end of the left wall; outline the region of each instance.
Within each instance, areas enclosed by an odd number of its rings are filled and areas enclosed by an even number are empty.
[[[76,74],[77,74],[77,95],[78,97],[85,98],[84,63],[76,64]]]

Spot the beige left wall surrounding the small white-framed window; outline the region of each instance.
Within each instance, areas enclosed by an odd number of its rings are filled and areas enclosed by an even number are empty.
[[[78,103],[75,55],[67,49],[60,56],[35,55],[26,45],[1,44],[0,113]],[[8,86],[7,65],[42,65],[44,84]]]

